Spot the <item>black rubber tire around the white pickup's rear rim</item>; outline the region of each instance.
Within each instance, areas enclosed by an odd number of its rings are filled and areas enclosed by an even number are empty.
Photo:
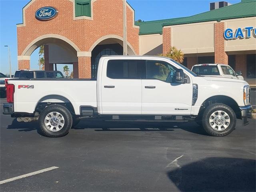
[[[56,131],[56,129],[55,129],[55,131],[51,131],[45,125],[45,118],[51,112],[57,112],[57,113],[61,114],[62,119],[64,118],[64,125],[61,127],[61,129],[59,131]],[[62,136],[65,136],[66,134],[68,134],[68,132],[72,126],[72,115],[71,115],[70,111],[64,106],[50,105],[50,106],[46,107],[44,110],[42,110],[42,112],[39,115],[38,122],[39,122],[40,132],[42,132],[42,134],[44,134],[45,136],[47,136],[47,137],[62,137]]]

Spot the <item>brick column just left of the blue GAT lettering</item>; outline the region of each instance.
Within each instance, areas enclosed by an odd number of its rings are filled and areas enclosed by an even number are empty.
[[[228,64],[228,55],[225,52],[224,22],[214,23],[214,53],[215,63]]]

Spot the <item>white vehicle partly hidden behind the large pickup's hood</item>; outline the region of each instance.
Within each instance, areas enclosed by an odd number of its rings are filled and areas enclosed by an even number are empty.
[[[198,64],[192,67],[192,72],[203,76],[216,76],[244,80],[240,71],[234,70],[225,64]]]

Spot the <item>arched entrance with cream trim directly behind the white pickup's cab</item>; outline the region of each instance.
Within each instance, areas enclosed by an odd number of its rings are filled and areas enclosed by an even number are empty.
[[[134,55],[135,51],[128,43],[128,55]],[[108,35],[97,40],[90,48],[92,52],[91,70],[92,78],[97,77],[97,68],[100,57],[103,55],[122,55],[123,54],[123,38],[117,35]]]

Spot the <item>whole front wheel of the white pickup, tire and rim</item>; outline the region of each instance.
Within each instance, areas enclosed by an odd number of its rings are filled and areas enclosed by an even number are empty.
[[[236,126],[236,114],[232,108],[225,104],[211,104],[204,110],[202,125],[211,136],[226,136]]]

